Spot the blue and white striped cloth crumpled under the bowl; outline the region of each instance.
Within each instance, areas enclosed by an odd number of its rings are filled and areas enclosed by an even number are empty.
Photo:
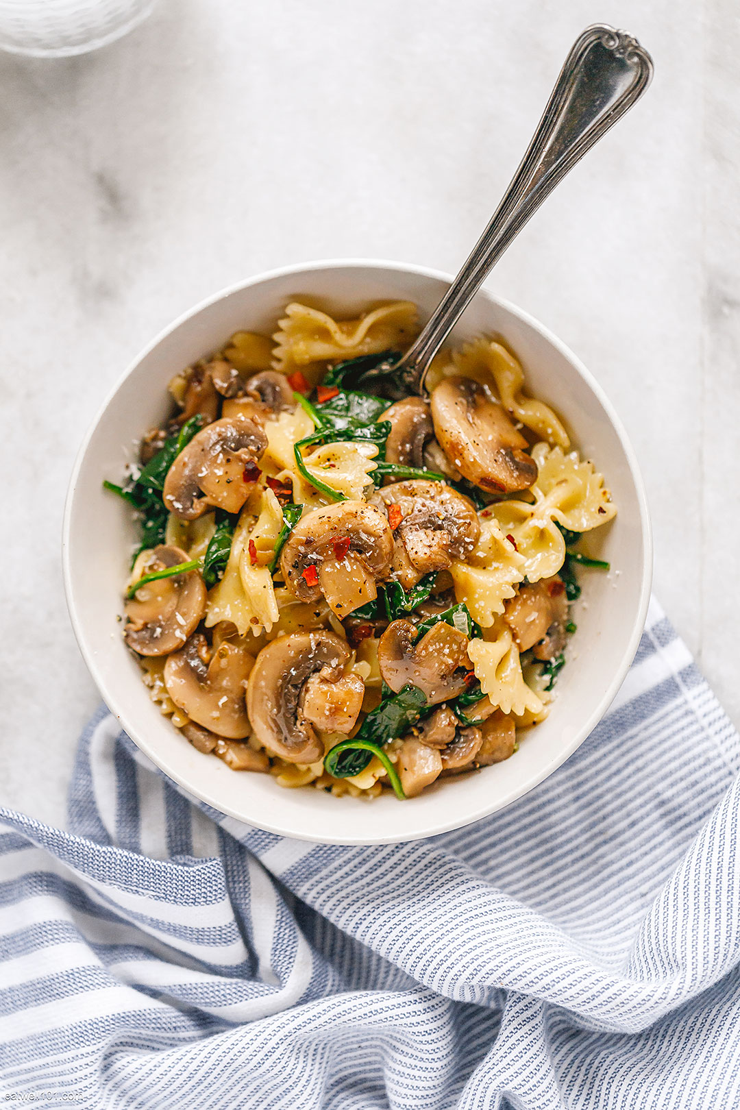
[[[740,740],[662,614],[609,715],[408,845],[251,829],[102,713],[70,829],[0,814],[0,1099],[740,1107]]]

